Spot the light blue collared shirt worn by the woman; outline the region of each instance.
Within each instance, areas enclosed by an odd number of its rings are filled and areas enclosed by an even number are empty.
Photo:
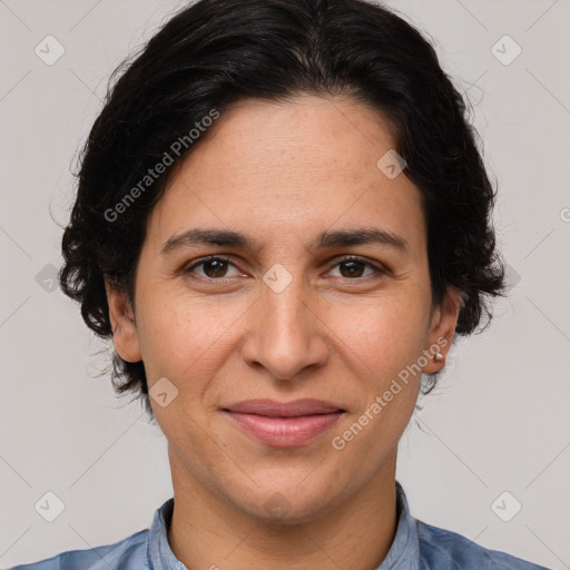
[[[487,550],[449,530],[432,527],[410,514],[404,490],[396,482],[397,528],[394,541],[377,570],[548,570],[497,550]],[[150,529],[90,550],[72,550],[9,570],[189,570],[168,544],[174,498],[159,507]],[[224,560],[213,564],[230,569]]]

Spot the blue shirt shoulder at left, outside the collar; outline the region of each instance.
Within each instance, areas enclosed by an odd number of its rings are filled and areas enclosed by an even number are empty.
[[[69,550],[51,558],[8,570],[144,570],[148,529],[112,544],[86,550]]]

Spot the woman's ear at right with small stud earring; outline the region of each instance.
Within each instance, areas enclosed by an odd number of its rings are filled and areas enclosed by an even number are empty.
[[[428,364],[422,368],[424,374],[435,374],[445,366],[445,358],[455,335],[461,302],[462,294],[450,287],[441,306],[433,309],[424,346],[424,354],[428,355]],[[436,352],[443,356],[440,361],[434,358]]]

